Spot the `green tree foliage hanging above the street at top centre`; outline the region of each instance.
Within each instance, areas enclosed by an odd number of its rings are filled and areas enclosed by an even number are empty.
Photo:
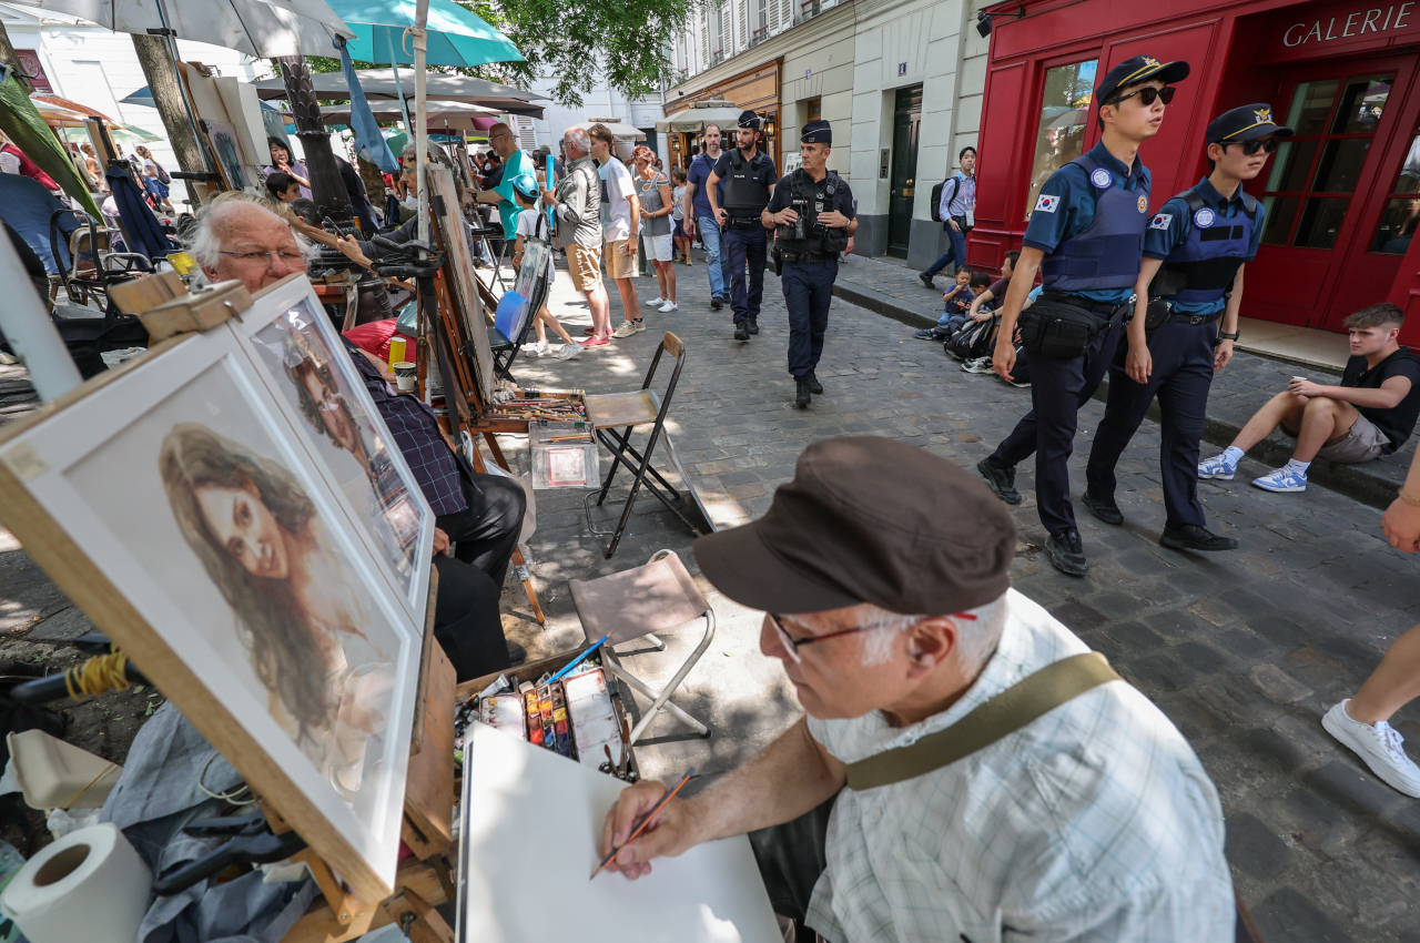
[[[672,38],[704,0],[456,1],[508,37],[525,61],[477,68],[430,65],[430,72],[459,72],[524,88],[540,75],[551,75],[552,98],[575,108],[598,78],[628,98],[669,81]],[[341,68],[337,58],[311,55],[307,62],[312,72]],[[355,62],[355,68],[375,64]],[[274,68],[273,74],[281,72]]]

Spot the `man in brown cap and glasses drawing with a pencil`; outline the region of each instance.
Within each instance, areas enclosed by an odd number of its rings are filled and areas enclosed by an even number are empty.
[[[1207,773],[1010,589],[1015,527],[980,481],[890,439],[826,439],[763,518],[694,550],[765,612],[760,648],[808,716],[670,800],[611,869],[754,832],[775,912],[831,943],[1233,939]],[[663,794],[626,788],[604,854]]]

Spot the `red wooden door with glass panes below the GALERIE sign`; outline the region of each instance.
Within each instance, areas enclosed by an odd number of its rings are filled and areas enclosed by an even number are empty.
[[[1414,126],[1409,112],[1420,105],[1409,95],[1414,72],[1414,57],[1390,57],[1281,74],[1274,119],[1296,136],[1251,186],[1267,224],[1248,266],[1244,314],[1340,329],[1348,314],[1384,300],[1409,212],[1392,187],[1420,189],[1420,168],[1399,176]]]

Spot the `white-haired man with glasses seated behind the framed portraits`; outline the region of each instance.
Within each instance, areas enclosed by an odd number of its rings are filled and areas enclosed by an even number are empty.
[[[189,250],[207,278],[240,281],[253,294],[290,274],[305,273],[301,241],[287,222],[258,197],[246,195],[203,206]],[[527,508],[523,489],[510,479],[469,467],[450,447],[426,403],[398,393],[378,358],[348,339],[344,344],[435,513],[433,562],[439,571],[435,638],[460,682],[511,667],[527,652],[503,636],[498,594],[523,531]],[[305,393],[322,423],[339,408],[338,388],[314,383]],[[342,442],[338,430],[327,432]]]

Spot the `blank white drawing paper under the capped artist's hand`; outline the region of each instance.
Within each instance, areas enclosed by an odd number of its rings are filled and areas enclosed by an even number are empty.
[[[460,939],[479,943],[780,943],[744,836],[595,881],[595,842],[625,787],[551,750],[471,724],[464,748]]]

